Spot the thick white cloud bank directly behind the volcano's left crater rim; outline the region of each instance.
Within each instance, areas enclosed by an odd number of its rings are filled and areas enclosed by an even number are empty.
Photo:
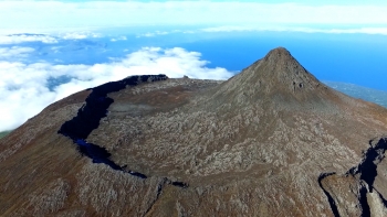
[[[28,52],[31,52],[28,47],[13,47],[14,55]],[[0,131],[17,128],[48,105],[73,93],[129,75],[187,75],[206,79],[227,79],[233,75],[224,68],[206,67],[208,63],[200,59],[200,53],[180,47],[144,47],[121,61],[95,65],[0,62]],[[61,76],[71,80],[50,90],[49,79]]]

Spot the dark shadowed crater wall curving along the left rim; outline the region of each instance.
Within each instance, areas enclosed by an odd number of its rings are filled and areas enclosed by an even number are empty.
[[[77,116],[63,123],[57,133],[72,139],[77,144],[79,151],[92,159],[93,163],[104,163],[113,170],[123,171],[123,166],[117,165],[109,159],[112,154],[106,149],[86,142],[85,140],[93,130],[98,128],[101,119],[106,117],[108,107],[114,102],[112,98],[107,97],[108,94],[119,91],[128,86],[166,80],[167,78],[166,75],[130,76],[123,80],[112,82],[92,88],[92,93],[86,98],[84,106],[79,110]],[[128,173],[142,178],[147,177],[145,174],[130,170],[128,170]]]

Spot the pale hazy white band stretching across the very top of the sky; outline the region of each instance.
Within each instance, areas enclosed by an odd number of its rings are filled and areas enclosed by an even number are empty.
[[[387,4],[363,1],[0,1],[0,29],[160,24],[387,24]],[[351,1],[347,1],[352,3]],[[30,31],[32,32],[32,31]]]

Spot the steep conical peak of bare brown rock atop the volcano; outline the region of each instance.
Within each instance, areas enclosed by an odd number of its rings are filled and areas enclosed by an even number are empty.
[[[284,105],[326,101],[334,93],[308,73],[286,48],[278,47],[222,84],[215,95],[223,97],[224,101],[238,100],[239,105],[241,98],[247,104],[259,99]]]

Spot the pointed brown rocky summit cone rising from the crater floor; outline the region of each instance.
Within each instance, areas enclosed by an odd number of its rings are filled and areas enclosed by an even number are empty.
[[[270,51],[240,74],[210,91],[209,104],[240,107],[251,104],[281,109],[336,109],[351,99],[307,72],[284,47]]]

